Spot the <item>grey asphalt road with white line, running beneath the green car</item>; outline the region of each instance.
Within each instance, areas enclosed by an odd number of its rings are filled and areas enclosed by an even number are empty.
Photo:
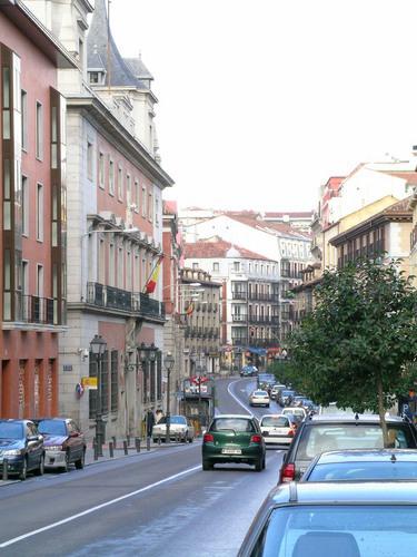
[[[250,409],[254,380],[220,380],[218,411]],[[46,475],[0,489],[1,556],[235,556],[277,482],[282,451],[261,473],[241,466],[201,470],[200,442]]]

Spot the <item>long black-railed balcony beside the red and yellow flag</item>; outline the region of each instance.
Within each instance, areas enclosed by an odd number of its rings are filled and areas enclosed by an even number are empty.
[[[87,303],[97,307],[139,314],[142,317],[165,319],[163,303],[152,300],[148,294],[128,292],[95,282],[87,284]]]

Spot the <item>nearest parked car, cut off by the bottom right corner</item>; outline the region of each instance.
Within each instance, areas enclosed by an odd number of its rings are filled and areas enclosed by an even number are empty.
[[[238,557],[408,557],[417,482],[306,482],[274,489]]]

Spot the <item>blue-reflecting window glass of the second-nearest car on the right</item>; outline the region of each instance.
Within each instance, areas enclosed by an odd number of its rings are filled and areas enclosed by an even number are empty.
[[[307,481],[416,480],[416,462],[335,462],[317,465]]]

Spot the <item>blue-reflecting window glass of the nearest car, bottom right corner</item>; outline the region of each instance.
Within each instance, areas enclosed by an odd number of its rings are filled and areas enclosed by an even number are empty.
[[[275,509],[264,531],[264,557],[405,557],[417,544],[415,505],[306,505]],[[407,548],[407,549],[405,549]]]

